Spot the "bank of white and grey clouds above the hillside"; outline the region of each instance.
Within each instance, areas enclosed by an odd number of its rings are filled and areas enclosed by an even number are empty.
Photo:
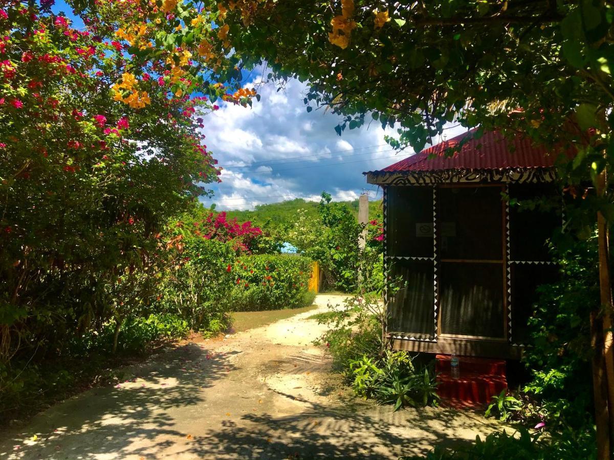
[[[246,86],[261,79],[256,75]],[[215,196],[204,199],[205,204],[252,209],[296,197],[317,201],[324,190],[335,201],[354,199],[363,189],[373,190],[375,197],[376,187],[367,184],[362,172],[411,154],[393,151],[384,136],[394,131],[384,131],[376,121],[337,136],[336,115],[306,112],[306,91],[298,80],[281,91],[263,85],[258,91],[262,98],[252,108],[221,103],[206,118],[206,144],[224,169],[222,183],[212,186]]]

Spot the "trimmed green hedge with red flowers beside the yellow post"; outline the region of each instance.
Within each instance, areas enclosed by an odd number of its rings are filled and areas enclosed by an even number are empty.
[[[311,305],[311,260],[295,255],[254,255],[238,259],[231,267],[235,288],[231,310],[295,309]]]

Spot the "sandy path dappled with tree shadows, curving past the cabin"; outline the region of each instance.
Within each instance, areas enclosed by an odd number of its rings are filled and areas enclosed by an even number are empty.
[[[317,296],[317,311],[341,296]],[[336,385],[322,332],[301,313],[223,342],[188,343],[0,435],[0,458],[391,458],[475,439],[495,424],[470,412],[392,413]],[[33,440],[34,435],[37,439]]]

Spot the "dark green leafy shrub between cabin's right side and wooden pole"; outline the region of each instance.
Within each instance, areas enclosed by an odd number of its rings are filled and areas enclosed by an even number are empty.
[[[586,309],[599,305],[596,237],[561,235],[553,246],[561,279],[538,288],[529,320],[531,339],[524,361],[532,379],[524,391],[540,402],[554,429],[592,425],[590,324]]]

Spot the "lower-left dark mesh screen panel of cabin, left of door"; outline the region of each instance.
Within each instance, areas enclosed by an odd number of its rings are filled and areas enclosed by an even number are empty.
[[[392,261],[393,280],[400,289],[389,302],[388,330],[416,336],[435,332],[433,263],[431,261]]]

